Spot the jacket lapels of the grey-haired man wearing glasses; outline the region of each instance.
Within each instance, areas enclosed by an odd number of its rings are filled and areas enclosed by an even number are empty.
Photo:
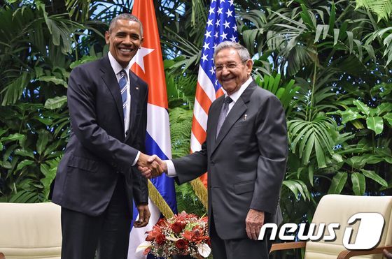
[[[225,121],[223,122],[221,131],[219,131],[219,134],[216,138],[215,145],[211,149],[211,154],[214,153],[218,145],[221,143],[223,138],[228,134],[230,131],[230,128],[235,124],[235,122],[241,117],[244,112],[248,109],[246,103],[249,102],[251,98],[251,94],[253,93],[253,90],[255,89],[256,84],[254,81],[249,84],[248,88],[245,89],[244,93],[241,94],[241,96],[238,98],[237,102],[235,102],[235,105],[232,107],[232,110],[228,113],[228,116],[226,117]],[[223,102],[223,101],[222,101]],[[222,105],[220,106],[222,107]],[[218,111],[218,117],[219,113],[221,113],[221,110]],[[214,135],[216,134],[216,124],[218,123],[218,117],[216,117],[216,122],[214,123],[215,131],[213,132]]]

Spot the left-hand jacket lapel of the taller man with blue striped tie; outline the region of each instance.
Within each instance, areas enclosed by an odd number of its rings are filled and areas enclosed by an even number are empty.
[[[121,99],[120,94],[120,86],[118,85],[116,75],[114,74],[113,68],[111,68],[111,64],[109,62],[109,57],[104,57],[102,59],[101,66],[101,77],[106,87],[108,87],[111,95],[113,96],[114,101],[116,102],[118,114],[121,118],[121,125],[124,128],[124,111],[123,111],[123,100]]]

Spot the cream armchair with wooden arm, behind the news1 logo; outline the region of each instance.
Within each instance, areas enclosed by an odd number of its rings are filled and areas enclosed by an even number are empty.
[[[384,231],[379,244],[366,251],[349,251],[343,246],[343,235],[347,221],[351,216],[360,212],[377,212],[384,217]],[[335,230],[336,239],[325,242],[289,242],[273,244],[270,251],[305,248],[305,259],[332,259],[332,258],[383,258],[383,249],[392,251],[392,196],[351,196],[351,195],[325,195],[321,198],[312,223],[339,223],[340,228]],[[358,228],[358,224],[357,228]],[[353,227],[355,231],[355,227]]]

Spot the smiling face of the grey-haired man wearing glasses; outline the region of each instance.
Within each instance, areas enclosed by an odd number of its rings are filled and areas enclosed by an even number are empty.
[[[242,61],[237,50],[233,48],[225,48],[218,52],[214,62],[216,67],[224,65],[216,71],[216,78],[228,95],[238,91],[251,75],[253,62],[251,59]]]

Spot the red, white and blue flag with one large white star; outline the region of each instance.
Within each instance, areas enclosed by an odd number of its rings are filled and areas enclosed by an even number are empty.
[[[153,0],[135,0],[132,15],[139,18],[144,29],[144,43],[131,61],[131,70],[148,83],[146,153],[157,154],[162,159],[171,159],[165,71]],[[146,231],[153,228],[161,213],[166,217],[177,213],[174,179],[165,174],[151,179],[148,182],[148,191],[151,218],[146,227],[132,228],[129,259],[145,258],[141,254],[135,255],[136,248],[144,242]],[[137,213],[137,209],[134,208],[134,220],[137,219]]]

